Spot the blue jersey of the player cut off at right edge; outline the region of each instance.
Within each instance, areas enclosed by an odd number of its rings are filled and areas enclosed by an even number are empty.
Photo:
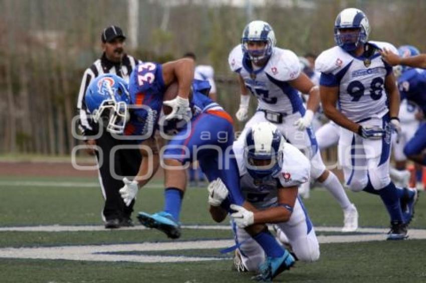
[[[401,99],[414,102],[426,113],[426,70],[409,68],[398,78]]]

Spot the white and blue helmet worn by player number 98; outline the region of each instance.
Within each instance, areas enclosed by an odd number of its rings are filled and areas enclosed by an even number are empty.
[[[341,29],[353,29],[352,32],[341,32]],[[356,8],[342,10],[334,22],[334,41],[345,51],[353,51],[360,44],[368,41],[370,24],[363,11]]]

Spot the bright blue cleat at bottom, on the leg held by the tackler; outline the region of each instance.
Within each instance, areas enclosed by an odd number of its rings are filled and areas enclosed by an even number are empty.
[[[295,259],[290,252],[285,249],[283,256],[268,257],[264,263],[259,266],[260,274],[253,277],[259,281],[272,281],[272,279],[283,272],[290,269],[294,265]]]

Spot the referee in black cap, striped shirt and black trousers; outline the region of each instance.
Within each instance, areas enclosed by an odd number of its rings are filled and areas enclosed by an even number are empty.
[[[115,151],[114,156],[110,152],[116,145],[136,144],[134,141],[116,139],[105,129],[101,136],[94,139],[98,133],[97,124],[90,118],[90,112],[85,103],[86,89],[89,83],[100,74],[114,73],[122,77],[126,82],[129,81],[130,73],[135,65],[140,61],[124,53],[124,41],[126,36],[120,27],[111,25],[102,31],[102,56],[86,69],[81,81],[80,92],[77,101],[77,110],[80,114],[79,128],[85,137],[87,145],[97,145],[102,150],[103,158],[100,153],[89,148],[88,153],[96,154],[96,160],[99,167],[99,181],[102,194],[105,199],[102,210],[102,219],[105,222],[105,228],[119,228],[133,226],[131,213],[133,211],[134,200],[129,206],[126,206],[118,190],[124,186],[121,178],[112,176],[112,168],[120,176],[135,176],[139,170],[141,155],[138,148],[119,149]],[[100,164],[99,161],[102,161]]]

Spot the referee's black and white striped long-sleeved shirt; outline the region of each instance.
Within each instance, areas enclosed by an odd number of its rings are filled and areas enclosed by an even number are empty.
[[[80,114],[79,128],[83,135],[96,134],[95,125],[89,118],[90,112],[87,110],[85,99],[86,89],[92,79],[103,73],[114,73],[122,77],[126,82],[129,82],[130,73],[140,62],[140,60],[136,60],[128,54],[123,54],[121,63],[115,63],[108,60],[105,53],[103,53],[99,59],[86,69],[83,74],[77,100],[77,111]]]

